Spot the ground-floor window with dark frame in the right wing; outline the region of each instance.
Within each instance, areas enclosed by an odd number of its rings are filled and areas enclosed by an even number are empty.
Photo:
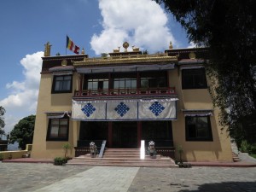
[[[209,116],[185,118],[186,141],[212,141],[212,128]]]

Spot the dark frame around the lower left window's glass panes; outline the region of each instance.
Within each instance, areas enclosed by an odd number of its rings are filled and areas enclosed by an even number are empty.
[[[69,118],[67,116],[58,119],[59,120],[58,135],[60,134],[60,125],[61,125],[60,123],[61,123],[61,120],[63,120],[63,119],[67,120],[67,133],[66,133],[66,137],[50,137],[50,132],[51,132],[51,128],[52,128],[52,121],[56,120],[56,119],[49,119],[46,141],[68,141],[68,136],[69,136]]]

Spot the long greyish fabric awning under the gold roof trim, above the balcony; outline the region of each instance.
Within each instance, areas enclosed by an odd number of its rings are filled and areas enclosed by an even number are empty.
[[[155,64],[155,65],[130,65],[130,66],[108,66],[108,67],[77,67],[78,73],[113,73],[113,72],[141,72],[155,70],[174,69],[174,64]]]

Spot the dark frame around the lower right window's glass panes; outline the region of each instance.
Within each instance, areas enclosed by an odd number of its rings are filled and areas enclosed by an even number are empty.
[[[198,127],[196,125],[197,120],[202,117],[207,117],[207,131],[208,136],[207,137],[190,137],[189,136],[189,124],[188,120],[189,118],[195,118],[195,130],[198,130]],[[186,116],[185,117],[185,133],[186,133],[186,141],[187,142],[212,142],[212,125],[211,125],[211,118],[209,115],[207,116]]]

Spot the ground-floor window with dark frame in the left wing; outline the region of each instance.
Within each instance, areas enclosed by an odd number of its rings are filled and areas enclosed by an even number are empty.
[[[68,119],[49,119],[47,141],[68,140]]]

